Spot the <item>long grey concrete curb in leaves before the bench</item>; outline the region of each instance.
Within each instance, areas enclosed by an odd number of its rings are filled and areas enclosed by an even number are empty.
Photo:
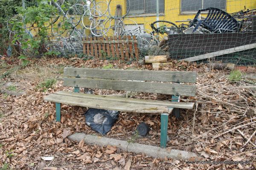
[[[68,139],[80,142],[84,139],[84,142],[90,145],[100,145],[100,146],[116,146],[122,150],[126,150],[127,152],[134,153],[145,153],[147,156],[151,156],[154,158],[172,158],[172,159],[183,159],[188,160],[192,157],[195,160],[201,159],[201,156],[198,156],[196,153],[186,152],[182,150],[169,150],[165,148],[160,148],[156,146],[146,145],[146,144],[138,144],[138,143],[128,143],[126,141],[118,140],[118,139],[110,139],[101,136],[87,135],[84,133],[74,133],[73,135],[68,136]]]

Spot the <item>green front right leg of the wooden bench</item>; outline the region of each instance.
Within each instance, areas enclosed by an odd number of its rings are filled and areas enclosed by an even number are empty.
[[[161,114],[161,139],[160,139],[160,147],[166,148],[167,142],[167,130],[168,130],[168,113]]]

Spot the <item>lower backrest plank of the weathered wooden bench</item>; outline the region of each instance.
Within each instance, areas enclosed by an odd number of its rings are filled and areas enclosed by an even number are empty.
[[[110,79],[64,78],[64,86],[195,96],[195,85]]]

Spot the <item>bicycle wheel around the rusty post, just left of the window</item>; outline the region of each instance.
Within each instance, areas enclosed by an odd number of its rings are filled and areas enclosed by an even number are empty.
[[[121,5],[117,5],[120,3],[119,0],[110,0],[109,3],[108,3],[108,13],[109,13],[109,16],[111,18],[114,18],[114,19],[122,19],[124,18],[130,11],[131,9],[131,3],[130,3],[130,0],[126,0],[124,1],[126,2],[125,6],[126,6],[126,9],[124,9],[123,11],[126,11],[125,14],[122,14],[122,6]],[[110,8],[114,8],[116,6],[116,11],[113,11],[111,14],[111,11],[110,11]]]

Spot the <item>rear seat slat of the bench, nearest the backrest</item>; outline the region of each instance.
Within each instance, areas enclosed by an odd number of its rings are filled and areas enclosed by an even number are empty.
[[[80,97],[83,99],[94,99],[94,100],[106,100],[111,102],[121,102],[121,103],[134,103],[141,105],[159,105],[159,106],[168,106],[171,108],[186,108],[192,109],[194,107],[194,103],[192,102],[163,102],[159,100],[148,100],[148,99],[133,99],[133,98],[125,98],[125,97],[117,97],[117,96],[105,96],[105,95],[93,95],[93,94],[81,94],[74,93],[68,91],[59,91],[55,94],[62,96],[73,96]]]

